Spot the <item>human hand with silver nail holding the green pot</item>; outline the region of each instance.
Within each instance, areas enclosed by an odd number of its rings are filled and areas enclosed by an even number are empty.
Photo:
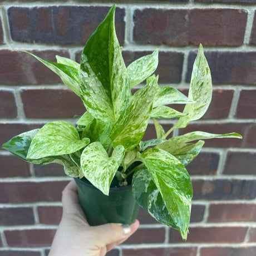
[[[90,227],[79,204],[74,180],[62,192],[62,205],[62,219],[49,256],[104,256],[139,228],[139,220],[130,226],[110,223]]]

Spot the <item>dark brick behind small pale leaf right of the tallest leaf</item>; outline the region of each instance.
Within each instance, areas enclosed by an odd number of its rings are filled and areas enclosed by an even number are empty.
[[[126,66],[130,65],[132,61],[137,60],[145,55],[149,55],[152,52],[122,52]],[[159,83],[179,83],[181,80],[181,72],[183,68],[183,53],[181,52],[159,52],[159,64],[155,71],[156,75],[159,75]]]

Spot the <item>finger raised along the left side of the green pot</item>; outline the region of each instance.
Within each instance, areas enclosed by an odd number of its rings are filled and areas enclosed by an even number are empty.
[[[75,180],[71,180],[62,191],[63,216],[68,214],[81,215],[85,218],[85,214],[79,204],[77,195],[77,185]]]

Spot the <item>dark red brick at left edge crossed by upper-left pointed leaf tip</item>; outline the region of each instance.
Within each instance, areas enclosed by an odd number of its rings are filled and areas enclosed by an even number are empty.
[[[31,51],[35,55],[56,62],[56,55],[69,57],[66,51]],[[60,78],[28,53],[0,51],[0,83],[4,85],[37,85],[62,83]]]

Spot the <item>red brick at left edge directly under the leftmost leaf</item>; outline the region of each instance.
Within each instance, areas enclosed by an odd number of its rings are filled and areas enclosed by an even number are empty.
[[[0,155],[0,177],[28,177],[29,163],[19,159],[17,156]]]

